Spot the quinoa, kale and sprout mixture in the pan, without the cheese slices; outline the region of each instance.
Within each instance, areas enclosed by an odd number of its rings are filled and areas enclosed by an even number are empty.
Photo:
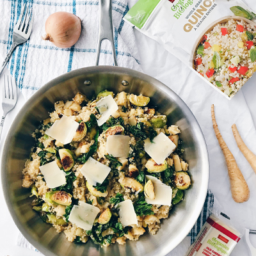
[[[97,120],[101,115],[96,104],[108,95],[114,97],[118,110],[99,127]],[[174,124],[168,127],[166,116],[147,106],[149,100],[143,95],[125,92],[114,96],[108,91],[99,93],[96,100],[88,100],[82,93],[77,93],[73,100],[56,102],[49,118],[43,120],[33,132],[35,147],[25,163],[22,186],[31,188],[34,196],[32,207],[42,220],[53,225],[58,233],[64,232],[68,241],[86,243],[90,238],[96,244],[108,246],[115,242],[125,244],[127,239],[136,241],[146,232],[156,234],[161,228],[161,220],[168,218],[171,207],[147,204],[145,196],[150,194],[152,199],[155,191],[154,184],[150,180],[147,182],[145,175],[154,176],[172,188],[172,206],[182,201],[183,190],[190,185],[190,178],[186,172],[188,163],[182,159],[181,131]],[[45,134],[62,115],[79,123],[72,142],[66,145]],[[152,141],[160,132],[168,136],[176,148],[163,164],[158,165],[145,152],[144,140],[149,138]],[[108,136],[118,134],[129,136],[127,158],[108,154]],[[96,186],[86,180],[81,170],[89,157],[111,169],[108,177]],[[40,171],[40,166],[52,162],[56,162],[57,169],[65,170],[66,184],[56,188],[47,186],[47,178]],[[189,180],[186,188],[180,182],[175,184],[175,180],[179,180],[179,168],[187,175],[184,180]],[[150,191],[147,191],[146,183],[150,184]],[[116,205],[125,200],[131,200],[138,224],[122,225]],[[99,209],[92,230],[84,230],[68,220],[78,202]]]

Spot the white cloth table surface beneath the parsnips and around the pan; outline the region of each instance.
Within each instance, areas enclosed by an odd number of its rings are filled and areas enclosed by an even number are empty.
[[[248,0],[247,2],[254,6],[254,9],[256,9],[255,0]],[[236,122],[236,124],[241,124],[241,122],[244,124],[250,124],[250,133],[248,131],[244,131],[244,134],[246,134],[245,141],[248,145],[250,145],[252,151],[256,153],[256,145],[254,142],[256,141],[256,131],[253,125],[253,122],[254,124],[256,124],[256,114],[254,113],[256,109],[256,88],[254,88],[256,83],[256,75],[253,76],[253,78],[246,84],[246,86],[244,86],[242,92],[239,92],[238,95],[234,97],[234,99],[232,99],[230,102],[227,102],[228,100],[222,97],[215,90],[212,90],[212,88],[205,84],[204,81],[200,79],[200,77],[193,74],[193,72],[191,72],[189,68],[185,67],[185,65],[182,64],[179,60],[166,52],[159,44],[157,44],[157,42],[154,42],[150,38],[141,35],[141,33],[139,33],[138,31],[135,31],[135,34],[136,40],[138,42],[138,50],[143,71],[146,74],[155,77],[164,84],[168,85],[170,88],[172,88],[172,90],[178,93],[182,99],[184,99],[184,101],[188,104],[189,108],[191,108],[191,111],[193,111],[202,128],[202,131],[205,134],[205,140],[207,142],[207,147],[209,150],[209,159],[211,165],[209,188],[214,193],[214,196],[216,197],[218,202],[220,202],[222,206],[221,210],[228,214],[228,216],[230,216],[232,220],[234,220],[236,223],[239,223],[241,227],[256,229],[256,175],[252,171],[252,168],[250,168],[250,165],[244,159],[241,152],[239,152],[238,148],[236,147],[236,143],[234,142],[234,139],[232,137],[233,135],[230,130],[230,126],[234,122]],[[154,52],[154,58],[152,56],[152,52]],[[182,74],[182,76],[180,76],[180,74]],[[223,135],[225,135],[225,140],[228,144],[228,147],[230,147],[230,149],[232,150],[233,154],[235,156],[238,156],[236,157],[237,163],[239,164],[241,169],[243,169],[243,173],[245,173],[244,177],[250,186],[251,197],[249,202],[246,202],[244,204],[236,204],[232,200],[230,193],[230,182],[227,175],[227,166],[225,164],[223,156],[221,155],[221,150],[218,146],[218,142],[216,141],[216,138],[214,136],[211,124],[210,109],[208,109],[209,113],[207,112],[206,114],[204,113],[204,109],[202,109],[202,111],[201,109],[200,111],[198,111],[198,108],[196,108],[196,105],[198,103],[191,99],[188,100],[186,97],[186,92],[180,90],[182,85],[186,83],[195,86],[195,92],[200,92],[198,91],[198,86],[206,86],[205,90],[209,90],[211,92],[211,97],[207,99],[207,102],[204,101],[204,106],[205,108],[211,108],[211,104],[214,103],[216,109],[218,109],[216,110],[216,112],[218,113],[218,117],[216,116],[216,118],[220,127],[220,131]],[[2,84],[3,76],[0,77],[0,87],[2,86]],[[8,132],[8,129],[24,102],[24,97],[21,95],[20,92],[18,92],[17,106],[15,107],[15,109],[13,109],[13,111],[9,113],[5,120],[3,134],[0,141],[0,154],[4,150],[3,142]],[[221,102],[225,102],[225,109],[221,109],[220,111]],[[243,104],[241,102],[243,102]],[[244,102],[246,102],[247,104]],[[240,103],[241,108],[239,108]],[[234,110],[232,108],[235,109],[236,113],[234,114],[233,118],[230,118],[230,115],[232,116],[232,113],[234,113]],[[250,112],[252,113],[252,115],[250,115]],[[1,114],[2,111],[0,109],[0,116]],[[244,119],[242,118],[242,116],[244,117]],[[226,119],[228,119],[227,122]],[[225,130],[225,125],[227,126],[227,129],[229,129],[228,131]],[[239,129],[241,129],[240,125]],[[13,223],[10,213],[8,212],[7,206],[4,202],[2,189],[0,191],[0,256],[38,256],[37,252],[20,248],[16,245],[19,230],[15,226],[15,223]],[[252,241],[252,244],[256,247],[256,236],[253,237],[253,235],[251,235],[250,239]],[[245,239],[243,237],[243,239],[239,241],[236,248],[232,252],[232,256],[247,255],[250,254],[248,252]]]

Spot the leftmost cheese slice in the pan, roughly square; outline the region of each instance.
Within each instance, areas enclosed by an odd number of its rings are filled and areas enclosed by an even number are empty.
[[[56,161],[44,164],[39,167],[42,175],[44,175],[44,180],[48,188],[57,188],[66,184],[66,175],[63,170],[60,170]]]

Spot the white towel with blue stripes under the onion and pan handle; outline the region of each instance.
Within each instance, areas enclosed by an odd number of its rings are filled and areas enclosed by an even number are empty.
[[[70,70],[95,65],[99,28],[99,0],[2,0],[0,1],[0,58],[5,58],[12,45],[13,28],[23,4],[33,8],[35,15],[29,40],[12,54],[8,68],[24,97],[28,99],[51,79]],[[112,0],[115,51],[118,66],[141,71],[140,60],[131,26],[122,18],[129,10],[127,0]],[[81,19],[82,33],[78,42],[68,49],[55,47],[42,40],[45,20],[54,12],[74,13]],[[5,25],[5,26],[4,26]],[[111,46],[102,42],[100,65],[113,65]]]

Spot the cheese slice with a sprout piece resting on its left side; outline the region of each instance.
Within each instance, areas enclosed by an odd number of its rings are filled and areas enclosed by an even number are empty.
[[[154,186],[155,199],[149,199],[146,197],[147,204],[160,204],[168,205],[172,204],[172,188],[167,186],[161,180],[156,177],[146,175],[147,180],[151,180]]]

